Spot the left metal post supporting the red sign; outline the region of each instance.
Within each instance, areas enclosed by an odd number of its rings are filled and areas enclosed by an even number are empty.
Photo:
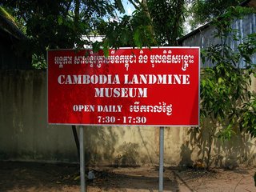
[[[80,182],[81,192],[86,192],[85,181],[85,154],[83,149],[83,126],[79,126],[79,140],[80,140]]]

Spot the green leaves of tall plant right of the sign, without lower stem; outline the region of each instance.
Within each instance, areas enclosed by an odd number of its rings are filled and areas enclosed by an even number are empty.
[[[226,129],[222,130],[222,134],[225,133],[224,138],[230,138],[231,127],[241,119],[242,105],[250,102],[253,94],[250,91],[250,74],[254,72],[254,64],[250,57],[256,53],[255,34],[244,38],[238,45],[238,51],[232,50],[226,44],[227,38],[231,37],[233,41],[237,39],[234,38],[236,32],[230,27],[233,21],[230,18],[238,18],[247,13],[248,10],[242,7],[231,7],[222,15],[222,20],[214,22],[217,29],[215,37],[220,38],[222,43],[202,50],[202,61],[207,59],[214,65],[213,68],[206,68],[202,72],[202,115],[214,118]],[[246,62],[246,69],[238,66],[241,60]],[[227,130],[230,130],[229,133]]]

